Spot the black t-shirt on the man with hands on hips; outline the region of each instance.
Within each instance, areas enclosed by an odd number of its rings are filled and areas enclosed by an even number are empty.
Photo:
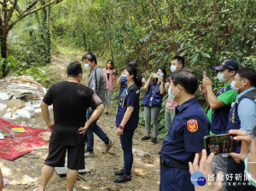
[[[53,84],[43,99],[47,105],[53,104],[55,126],[50,142],[61,145],[76,145],[85,142],[85,136],[79,135],[84,127],[86,110],[95,109],[102,104],[90,88],[73,82]]]

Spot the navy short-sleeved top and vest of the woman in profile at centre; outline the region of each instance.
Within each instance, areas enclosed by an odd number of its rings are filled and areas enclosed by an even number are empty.
[[[136,84],[131,84],[136,85]],[[137,91],[130,90],[130,88],[125,88],[122,94],[119,96],[119,107],[118,112],[116,114],[115,124],[118,127],[121,124],[122,119],[125,116],[125,112],[128,106],[134,107],[133,112],[131,113],[131,117],[128,122],[125,124],[125,130],[134,130],[137,128],[138,120],[139,120],[139,89],[136,87]],[[137,86],[137,85],[136,85]]]

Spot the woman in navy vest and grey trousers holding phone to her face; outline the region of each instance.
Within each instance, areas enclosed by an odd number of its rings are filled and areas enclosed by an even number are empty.
[[[166,69],[158,68],[157,78],[153,77],[153,73],[148,78],[144,85],[144,90],[147,90],[143,96],[142,104],[144,106],[146,136],[141,138],[141,141],[150,140],[150,122],[153,124],[152,144],[157,142],[158,134],[158,116],[161,110],[163,94],[165,93]]]

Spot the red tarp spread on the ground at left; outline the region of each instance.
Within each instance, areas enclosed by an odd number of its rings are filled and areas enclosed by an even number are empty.
[[[23,127],[26,132],[15,133],[11,130],[11,128],[14,127]],[[5,136],[3,140],[0,140],[0,158],[2,159],[14,160],[49,142],[38,136],[42,132],[49,132],[49,130],[45,129],[26,127],[0,119],[0,130],[2,130],[3,133],[8,133],[10,135]]]

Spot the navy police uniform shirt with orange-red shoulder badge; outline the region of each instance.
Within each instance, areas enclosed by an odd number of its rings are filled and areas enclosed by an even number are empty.
[[[203,137],[208,135],[210,122],[196,98],[176,107],[168,135],[163,140],[161,158],[173,162],[193,162],[195,153],[201,152]]]

